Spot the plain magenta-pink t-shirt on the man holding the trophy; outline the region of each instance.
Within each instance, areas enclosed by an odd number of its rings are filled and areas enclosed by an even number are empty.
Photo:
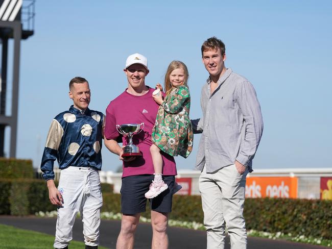
[[[105,137],[107,139],[116,139],[120,134],[117,132],[116,124],[142,123],[144,129],[140,133],[133,135],[133,144],[139,147],[143,157],[136,157],[134,161],[123,162],[122,177],[136,175],[153,175],[153,163],[150,153],[152,145],[152,128],[156,121],[159,105],[152,98],[153,88],[143,96],[135,96],[127,92],[127,89],[113,99],[106,109]],[[123,137],[124,145],[128,143],[128,138]],[[162,153],[163,175],[175,176],[176,165],[174,158],[168,154]]]

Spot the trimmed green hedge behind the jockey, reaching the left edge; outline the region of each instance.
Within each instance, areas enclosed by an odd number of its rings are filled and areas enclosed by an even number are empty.
[[[102,191],[110,193],[113,186],[102,183]],[[0,179],[0,214],[29,215],[53,210],[56,207],[49,201],[44,180]]]

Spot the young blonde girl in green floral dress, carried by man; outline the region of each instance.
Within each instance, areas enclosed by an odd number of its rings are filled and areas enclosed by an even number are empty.
[[[145,197],[154,198],[168,188],[162,180],[161,151],[171,156],[187,158],[193,150],[193,130],[189,119],[190,94],[187,86],[188,69],[181,61],[172,61],[165,74],[165,92],[153,95],[159,104],[152,130],[150,152],[154,167],[154,180]],[[157,85],[158,87],[158,85]]]

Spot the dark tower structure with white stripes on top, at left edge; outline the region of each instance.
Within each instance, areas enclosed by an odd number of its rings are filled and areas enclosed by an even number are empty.
[[[0,157],[5,156],[5,129],[10,128],[9,157],[16,157],[20,41],[34,34],[35,0],[0,0]],[[8,53],[13,39],[13,51]],[[11,92],[7,91],[8,57],[13,61]],[[11,96],[10,96],[11,95]],[[11,103],[8,103],[11,100]],[[7,108],[10,104],[11,108]],[[9,110],[7,110],[9,109]]]

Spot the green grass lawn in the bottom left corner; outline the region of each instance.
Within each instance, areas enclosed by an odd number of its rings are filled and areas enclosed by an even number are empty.
[[[0,241],[1,249],[52,249],[54,236],[0,225]],[[70,249],[82,249],[84,246],[83,242],[78,241],[71,241],[69,244]],[[106,249],[103,246],[98,248]]]

